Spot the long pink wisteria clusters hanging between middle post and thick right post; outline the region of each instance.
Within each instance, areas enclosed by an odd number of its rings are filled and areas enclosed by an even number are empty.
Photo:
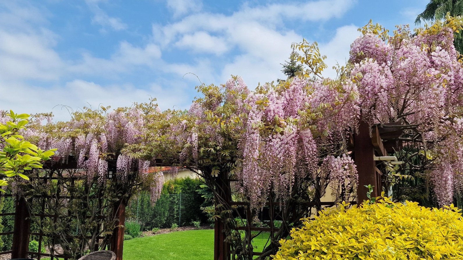
[[[324,193],[323,183],[331,175],[338,178],[344,174],[344,179],[356,183],[353,164],[338,172],[321,172],[318,165],[326,154],[336,154],[339,148],[323,144],[342,143],[342,136],[350,131],[349,120],[358,117],[356,110],[345,110],[358,107],[351,95],[353,85],[349,86],[295,78],[282,85],[267,85],[263,93],[250,94],[245,100],[248,113],[239,144],[243,165],[238,179],[251,206],[261,207],[270,189],[286,200],[295,183],[312,181]]]

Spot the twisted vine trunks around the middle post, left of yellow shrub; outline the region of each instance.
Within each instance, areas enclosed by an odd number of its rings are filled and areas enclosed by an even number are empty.
[[[196,171],[204,178],[205,184],[211,188],[214,195],[215,202],[215,216],[214,218],[214,260],[253,260],[254,247],[252,246],[252,239],[261,234],[253,234],[251,232],[251,220],[258,215],[259,212],[251,211],[248,206],[244,206],[246,211],[242,215],[236,203],[232,202],[232,189],[230,185],[230,171],[222,171],[218,176],[212,175],[212,169],[202,168]],[[267,245],[263,248],[262,254],[257,256],[257,260],[264,260],[267,257],[276,254],[280,246],[279,241],[286,239],[289,236],[290,230],[293,227],[300,225],[300,219],[308,217],[312,214],[312,207],[308,205],[315,205],[318,212],[321,209],[320,197],[321,192],[319,189],[315,192],[313,198],[307,195],[307,181],[300,181],[296,183],[295,188],[291,192],[291,199],[288,199],[284,204],[279,206],[282,215],[282,225],[280,228],[272,231],[269,236]],[[304,187],[302,187],[304,186]],[[299,188],[296,188],[299,187]],[[302,188],[301,188],[302,187]],[[326,187],[321,187],[326,188]],[[271,201],[273,195],[269,198],[269,205],[273,205]],[[270,226],[273,227],[273,221],[277,214],[270,211]],[[238,221],[246,223],[247,230],[238,230]]]

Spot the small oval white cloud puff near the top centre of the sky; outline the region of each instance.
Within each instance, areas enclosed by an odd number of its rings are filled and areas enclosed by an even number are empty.
[[[181,49],[190,48],[194,52],[223,54],[229,50],[223,37],[211,36],[205,31],[197,31],[184,35],[175,46]]]

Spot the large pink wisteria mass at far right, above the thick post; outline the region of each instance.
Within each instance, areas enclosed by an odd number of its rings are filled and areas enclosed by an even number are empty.
[[[420,143],[417,149],[434,155],[428,180],[440,205],[450,204],[454,191],[463,192],[462,129],[457,127],[463,67],[453,46],[453,32],[462,24],[461,18],[448,17],[416,35],[399,30],[387,40],[365,33],[350,50],[363,118],[404,125],[402,140]]]

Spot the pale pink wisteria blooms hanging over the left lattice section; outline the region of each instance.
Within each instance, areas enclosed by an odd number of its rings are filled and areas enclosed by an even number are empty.
[[[53,123],[50,115],[37,115],[31,127],[24,133],[27,139],[36,140],[42,149],[57,148],[54,163],[69,163],[75,160],[77,174],[85,174],[90,183],[106,183],[108,171],[113,171],[116,180],[124,184],[130,178],[148,179],[150,160],[135,159],[121,150],[126,145],[142,142],[144,129],[143,110],[139,106],[119,108],[105,114],[104,110],[87,109],[75,112],[70,121]],[[159,113],[157,110],[151,113]],[[45,125],[42,124],[47,120]],[[110,162],[110,163],[108,163]],[[109,169],[114,165],[115,169]],[[111,166],[113,167],[113,166]],[[154,183],[159,185],[162,176],[156,175]],[[159,187],[152,191],[159,192]],[[152,194],[158,198],[158,194]]]

